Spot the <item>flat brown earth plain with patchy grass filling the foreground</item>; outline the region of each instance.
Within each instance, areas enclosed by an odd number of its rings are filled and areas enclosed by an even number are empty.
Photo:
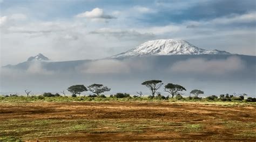
[[[0,103],[0,141],[256,140],[256,105],[181,102]]]

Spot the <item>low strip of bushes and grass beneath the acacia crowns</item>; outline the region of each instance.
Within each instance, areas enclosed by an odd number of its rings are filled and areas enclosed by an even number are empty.
[[[60,96],[60,95],[52,95],[50,93],[46,93],[43,95],[34,95],[34,96],[0,96],[0,102],[104,102],[104,101],[137,101],[137,102],[218,102],[218,103],[248,103],[255,104],[256,98],[248,97],[244,99],[243,97],[234,97],[234,96],[224,96],[224,97],[212,97],[208,96],[206,98],[203,97],[182,97],[176,96],[165,97],[165,96],[148,96],[148,97],[131,97],[130,94],[117,93],[116,95],[110,95],[106,97],[105,95],[87,95],[80,97],[71,97],[71,96]]]

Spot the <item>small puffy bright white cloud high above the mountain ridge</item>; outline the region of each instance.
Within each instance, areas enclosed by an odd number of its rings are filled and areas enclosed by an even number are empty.
[[[85,11],[79,13],[76,17],[78,18],[89,18],[89,19],[113,19],[115,17],[110,15],[105,15],[103,9],[95,8],[92,11]]]

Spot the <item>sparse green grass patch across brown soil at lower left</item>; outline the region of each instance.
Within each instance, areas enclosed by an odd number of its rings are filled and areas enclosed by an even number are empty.
[[[201,126],[201,125],[200,125]],[[146,131],[175,131],[199,129],[199,125],[138,119],[129,122],[114,119],[11,119],[2,120],[1,139],[32,140],[52,136],[72,136],[77,133],[143,133]],[[15,137],[14,137],[15,136]],[[0,140],[1,141],[1,140]]]

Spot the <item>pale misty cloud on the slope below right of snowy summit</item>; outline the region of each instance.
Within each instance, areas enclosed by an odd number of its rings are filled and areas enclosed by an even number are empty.
[[[232,56],[226,60],[205,60],[198,58],[178,61],[171,67],[171,71],[186,74],[221,75],[237,72],[244,68],[244,62],[240,58]]]

